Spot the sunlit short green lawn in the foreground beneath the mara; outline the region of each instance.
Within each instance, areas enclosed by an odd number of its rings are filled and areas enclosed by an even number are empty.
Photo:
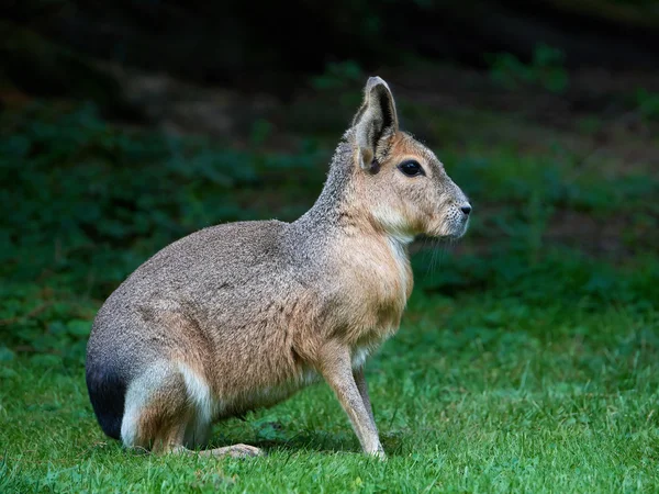
[[[562,302],[417,294],[368,367],[383,463],[324,384],[216,427],[266,458],[155,458],[103,437],[80,366],[4,362],[0,491],[654,492],[659,315]]]

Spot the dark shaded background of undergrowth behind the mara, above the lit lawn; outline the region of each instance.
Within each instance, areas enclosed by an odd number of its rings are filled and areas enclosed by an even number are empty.
[[[474,206],[458,246],[414,246],[431,252],[414,258],[421,293],[656,296],[616,270],[657,268],[657,2],[4,0],[0,14],[12,351],[81,358],[100,303],[163,246],[302,214],[370,75]]]

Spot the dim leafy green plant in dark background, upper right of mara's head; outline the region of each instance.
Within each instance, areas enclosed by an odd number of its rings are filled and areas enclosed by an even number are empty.
[[[488,56],[492,80],[509,90],[522,85],[534,85],[551,92],[563,92],[569,85],[565,68],[565,54],[551,46],[539,44],[529,64],[524,64],[510,53]]]

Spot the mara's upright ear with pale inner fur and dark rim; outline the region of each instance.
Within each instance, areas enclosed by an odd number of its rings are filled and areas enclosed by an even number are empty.
[[[370,170],[380,139],[399,128],[393,96],[387,82],[379,77],[368,79],[364,103],[353,120],[353,128],[359,146],[360,166]]]

